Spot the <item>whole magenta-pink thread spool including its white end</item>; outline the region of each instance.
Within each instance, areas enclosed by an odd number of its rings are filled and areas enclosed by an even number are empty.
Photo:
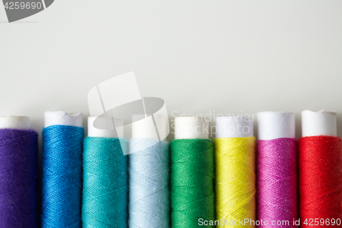
[[[285,221],[282,227],[297,227],[295,114],[259,112],[258,118],[258,220],[264,221],[263,227],[274,227],[274,220]]]

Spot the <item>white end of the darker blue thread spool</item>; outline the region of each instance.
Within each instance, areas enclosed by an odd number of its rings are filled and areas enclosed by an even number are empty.
[[[45,112],[44,113],[44,127],[52,125],[66,125],[74,127],[83,127],[83,114],[68,114],[66,112]]]

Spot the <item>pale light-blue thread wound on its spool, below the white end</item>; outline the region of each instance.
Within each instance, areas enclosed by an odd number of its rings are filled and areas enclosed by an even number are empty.
[[[129,148],[129,227],[170,227],[168,142],[133,139]]]

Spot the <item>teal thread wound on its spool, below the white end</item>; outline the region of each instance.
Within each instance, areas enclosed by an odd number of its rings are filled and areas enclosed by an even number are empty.
[[[121,142],[121,143],[120,143]],[[84,140],[84,228],[127,227],[127,141],[118,138]]]

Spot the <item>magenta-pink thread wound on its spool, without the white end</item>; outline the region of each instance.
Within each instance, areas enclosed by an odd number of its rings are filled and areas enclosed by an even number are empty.
[[[281,227],[297,227],[297,142],[294,138],[258,141],[258,220],[288,221]],[[280,226],[278,226],[280,227]]]

